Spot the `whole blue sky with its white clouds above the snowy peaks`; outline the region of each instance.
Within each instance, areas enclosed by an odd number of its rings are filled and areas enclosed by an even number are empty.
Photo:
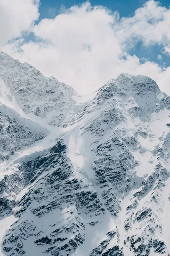
[[[150,76],[170,94],[169,4],[169,0],[3,2],[0,48],[79,93],[91,93],[125,72]]]

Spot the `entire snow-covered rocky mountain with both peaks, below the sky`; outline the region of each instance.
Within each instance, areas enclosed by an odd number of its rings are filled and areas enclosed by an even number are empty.
[[[170,97],[156,82],[121,73],[81,103],[3,52],[0,77],[0,256],[169,256]]]

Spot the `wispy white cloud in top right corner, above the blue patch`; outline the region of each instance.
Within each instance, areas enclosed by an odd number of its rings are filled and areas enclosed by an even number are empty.
[[[137,9],[133,17],[122,18],[117,24],[121,41],[134,43],[141,40],[145,45],[170,43],[170,9],[158,1],[147,1]]]

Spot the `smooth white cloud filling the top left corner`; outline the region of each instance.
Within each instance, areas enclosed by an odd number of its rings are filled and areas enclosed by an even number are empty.
[[[39,17],[39,0],[0,0],[0,46],[31,31]]]

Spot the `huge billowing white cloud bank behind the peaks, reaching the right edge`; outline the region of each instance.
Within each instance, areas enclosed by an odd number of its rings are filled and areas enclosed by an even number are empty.
[[[38,3],[28,2],[37,8]],[[25,30],[31,28],[38,12],[33,16]],[[25,42],[21,37],[5,44],[3,50],[14,58],[30,62],[45,76],[55,76],[80,93],[93,92],[112,77],[125,72],[150,76],[161,90],[170,94],[170,68],[150,61],[141,64],[136,55],[128,54],[138,41],[147,47],[159,44],[164,52],[168,52],[169,25],[170,10],[153,0],[137,9],[133,17],[121,19],[117,12],[112,13],[103,6],[92,7],[86,2],[63,9],[54,19],[43,19],[32,26],[35,41]],[[16,34],[21,34],[24,29]]]

